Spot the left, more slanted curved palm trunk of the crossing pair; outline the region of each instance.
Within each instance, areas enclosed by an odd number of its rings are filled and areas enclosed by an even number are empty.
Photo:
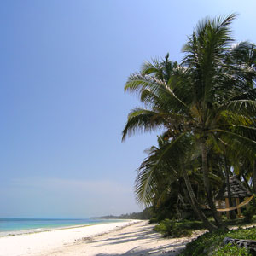
[[[184,193],[185,193],[185,195],[187,193],[189,194],[189,199],[190,199],[189,201],[191,203],[191,207],[193,208],[195,214],[198,216],[198,218],[201,219],[203,224],[206,226],[207,230],[209,230],[211,232],[214,231],[214,230],[218,230],[218,228],[215,225],[213,225],[212,223],[209,222],[209,220],[205,216],[204,212],[201,211],[201,207],[200,207],[198,201],[195,198],[195,193],[194,193],[194,190],[192,189],[188,174],[184,170],[183,167],[181,169],[182,169],[183,178],[184,178],[186,188],[187,188],[187,191],[185,191],[185,189],[184,189]]]

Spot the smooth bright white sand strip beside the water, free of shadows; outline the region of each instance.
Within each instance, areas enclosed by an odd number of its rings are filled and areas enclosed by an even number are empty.
[[[83,227],[67,227],[59,230],[42,230],[15,236],[0,237],[0,256],[48,255],[49,252],[61,247],[72,246],[84,239],[90,240],[114,230],[119,230],[141,222],[129,220],[104,224],[91,224]],[[44,255],[44,254],[43,254]]]

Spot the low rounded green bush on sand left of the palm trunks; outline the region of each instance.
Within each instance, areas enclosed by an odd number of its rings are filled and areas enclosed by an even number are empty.
[[[166,218],[162,220],[160,224],[154,227],[154,230],[160,232],[160,234],[164,237],[173,236],[173,237],[181,237],[181,236],[190,236],[192,234],[192,230],[183,229],[181,225],[178,224],[177,221]]]

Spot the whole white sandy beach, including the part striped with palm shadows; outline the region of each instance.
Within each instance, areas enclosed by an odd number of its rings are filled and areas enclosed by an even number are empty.
[[[147,221],[0,237],[0,256],[177,255],[192,237],[164,239]]]

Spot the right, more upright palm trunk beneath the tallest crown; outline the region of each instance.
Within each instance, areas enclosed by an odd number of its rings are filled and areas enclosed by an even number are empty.
[[[209,204],[209,207],[212,211],[212,216],[217,224],[217,226],[221,229],[225,229],[225,226],[218,215],[215,203],[212,199],[212,188],[211,183],[209,179],[209,169],[207,165],[207,145],[206,142],[201,142],[201,160],[202,160],[202,172],[203,172],[203,181],[204,181],[204,187],[207,192],[207,201]]]

